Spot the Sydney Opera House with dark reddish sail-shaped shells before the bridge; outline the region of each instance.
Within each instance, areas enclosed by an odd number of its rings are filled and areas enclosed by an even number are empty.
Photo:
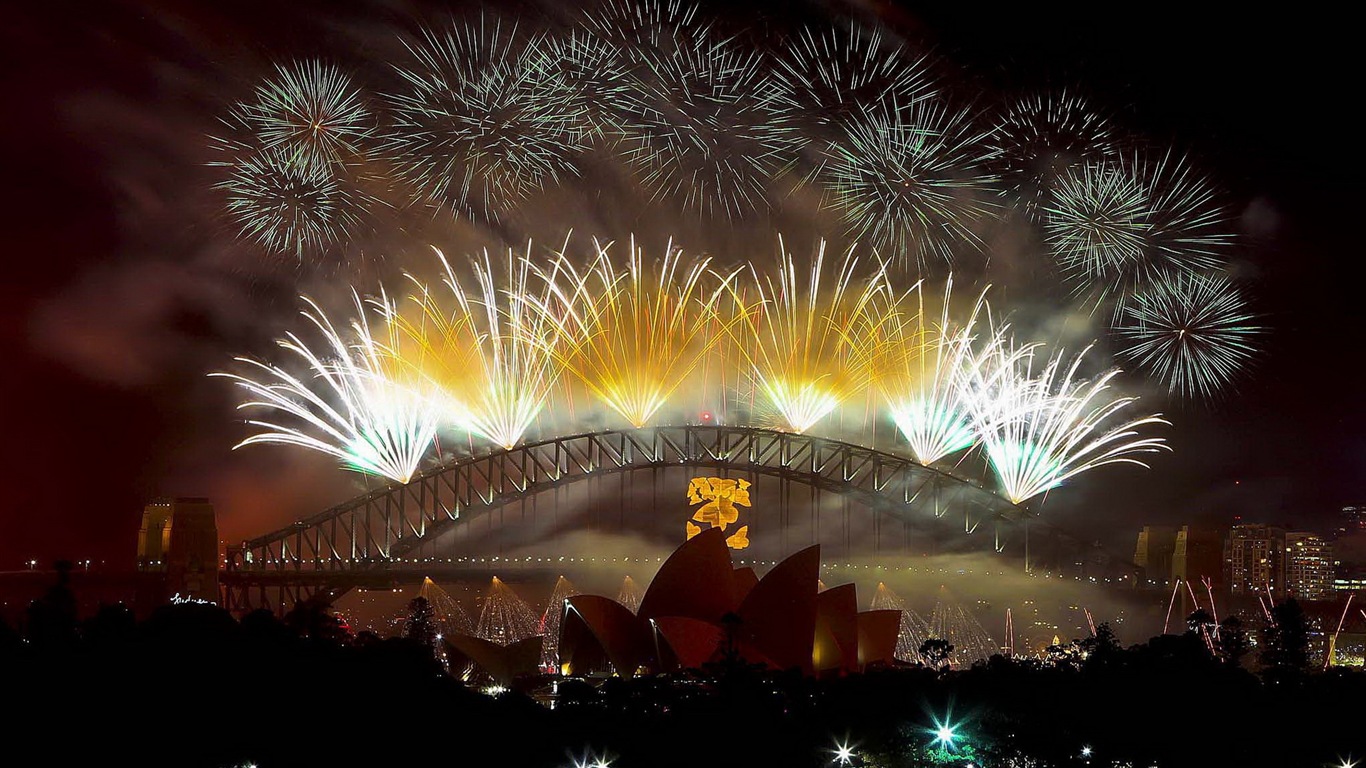
[[[895,664],[902,612],[861,612],[852,584],[822,590],[818,571],[820,547],[809,547],[759,578],[734,567],[721,529],[705,530],[664,562],[638,612],[596,594],[567,599],[559,670],[627,676],[743,660],[826,676]],[[445,637],[449,653],[499,682],[534,672],[540,641]]]

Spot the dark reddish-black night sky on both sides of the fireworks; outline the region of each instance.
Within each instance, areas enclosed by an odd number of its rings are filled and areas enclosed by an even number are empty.
[[[1067,489],[1060,518],[1123,548],[1143,522],[1311,525],[1366,500],[1351,25],[1180,7],[852,11],[932,41],[967,89],[1083,87],[1188,150],[1238,213],[1239,269],[1270,328],[1257,369],[1213,406],[1167,409],[1173,452],[1149,473],[1108,469]],[[232,537],[351,495],[355,480],[326,459],[228,451],[240,437],[231,394],[204,374],[266,351],[301,286],[337,273],[232,242],[206,215],[205,135],[272,59],[382,57],[393,25],[444,8],[130,0],[14,14],[0,31],[0,571],[29,558],[131,562],[141,507],[158,493],[213,497]]]

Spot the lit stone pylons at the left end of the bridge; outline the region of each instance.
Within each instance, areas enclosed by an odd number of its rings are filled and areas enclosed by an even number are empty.
[[[165,573],[169,594],[216,603],[219,523],[213,504],[208,499],[158,499],[143,507],[138,570]]]

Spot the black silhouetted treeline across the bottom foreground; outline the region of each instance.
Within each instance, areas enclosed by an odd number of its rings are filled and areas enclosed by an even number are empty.
[[[1109,627],[1045,660],[816,681],[728,657],[680,675],[542,678],[497,696],[449,675],[423,614],[351,634],[326,605],[212,604],[76,620],[64,588],[0,625],[0,720],[31,765],[1339,765],[1366,756],[1366,674],[1310,668],[1303,615],[1255,649],[1201,614],[1121,648]],[[1257,671],[1250,671],[1255,667]],[[531,693],[555,690],[555,707]],[[952,749],[936,728],[953,728]],[[1082,757],[1082,748],[1091,754]],[[434,763],[433,763],[434,761]],[[0,764],[11,764],[0,758]]]

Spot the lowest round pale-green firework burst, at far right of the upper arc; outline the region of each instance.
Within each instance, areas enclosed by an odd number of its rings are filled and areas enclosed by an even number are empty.
[[[1179,273],[1138,290],[1115,335],[1120,355],[1182,398],[1210,398],[1257,354],[1261,333],[1227,277]]]

